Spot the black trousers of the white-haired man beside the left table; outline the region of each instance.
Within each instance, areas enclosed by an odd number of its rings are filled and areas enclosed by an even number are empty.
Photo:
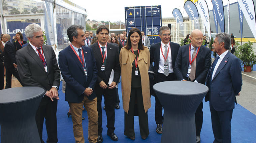
[[[36,124],[39,133],[39,137],[41,139],[41,143],[44,143],[42,140],[42,132],[43,132],[43,120],[45,118],[45,126],[47,132],[47,143],[57,143],[58,135],[57,135],[57,103],[58,100],[54,99],[52,102],[49,97],[44,96],[37,111],[36,111]]]

